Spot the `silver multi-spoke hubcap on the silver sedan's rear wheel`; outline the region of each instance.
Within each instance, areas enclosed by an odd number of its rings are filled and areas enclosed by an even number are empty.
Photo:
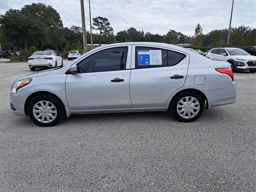
[[[182,98],[177,105],[178,114],[186,119],[196,116],[199,110],[200,104],[198,100],[191,96]]]

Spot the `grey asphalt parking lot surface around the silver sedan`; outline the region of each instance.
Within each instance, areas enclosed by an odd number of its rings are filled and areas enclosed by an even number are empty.
[[[256,191],[256,73],[235,73],[237,102],[196,122],[134,112],[42,128],[10,112],[27,65],[0,63],[0,191]]]

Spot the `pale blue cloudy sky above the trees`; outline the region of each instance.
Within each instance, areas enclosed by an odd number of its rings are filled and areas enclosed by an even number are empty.
[[[82,26],[79,0],[0,0],[0,14],[20,9],[25,4],[45,3],[60,14],[63,25]],[[192,36],[200,23],[203,34],[214,29],[228,28],[232,0],[91,0],[92,18],[108,18],[114,34],[134,27],[164,35],[176,30]],[[86,29],[89,30],[88,0],[84,0]],[[256,28],[256,0],[234,0],[232,26]]]

